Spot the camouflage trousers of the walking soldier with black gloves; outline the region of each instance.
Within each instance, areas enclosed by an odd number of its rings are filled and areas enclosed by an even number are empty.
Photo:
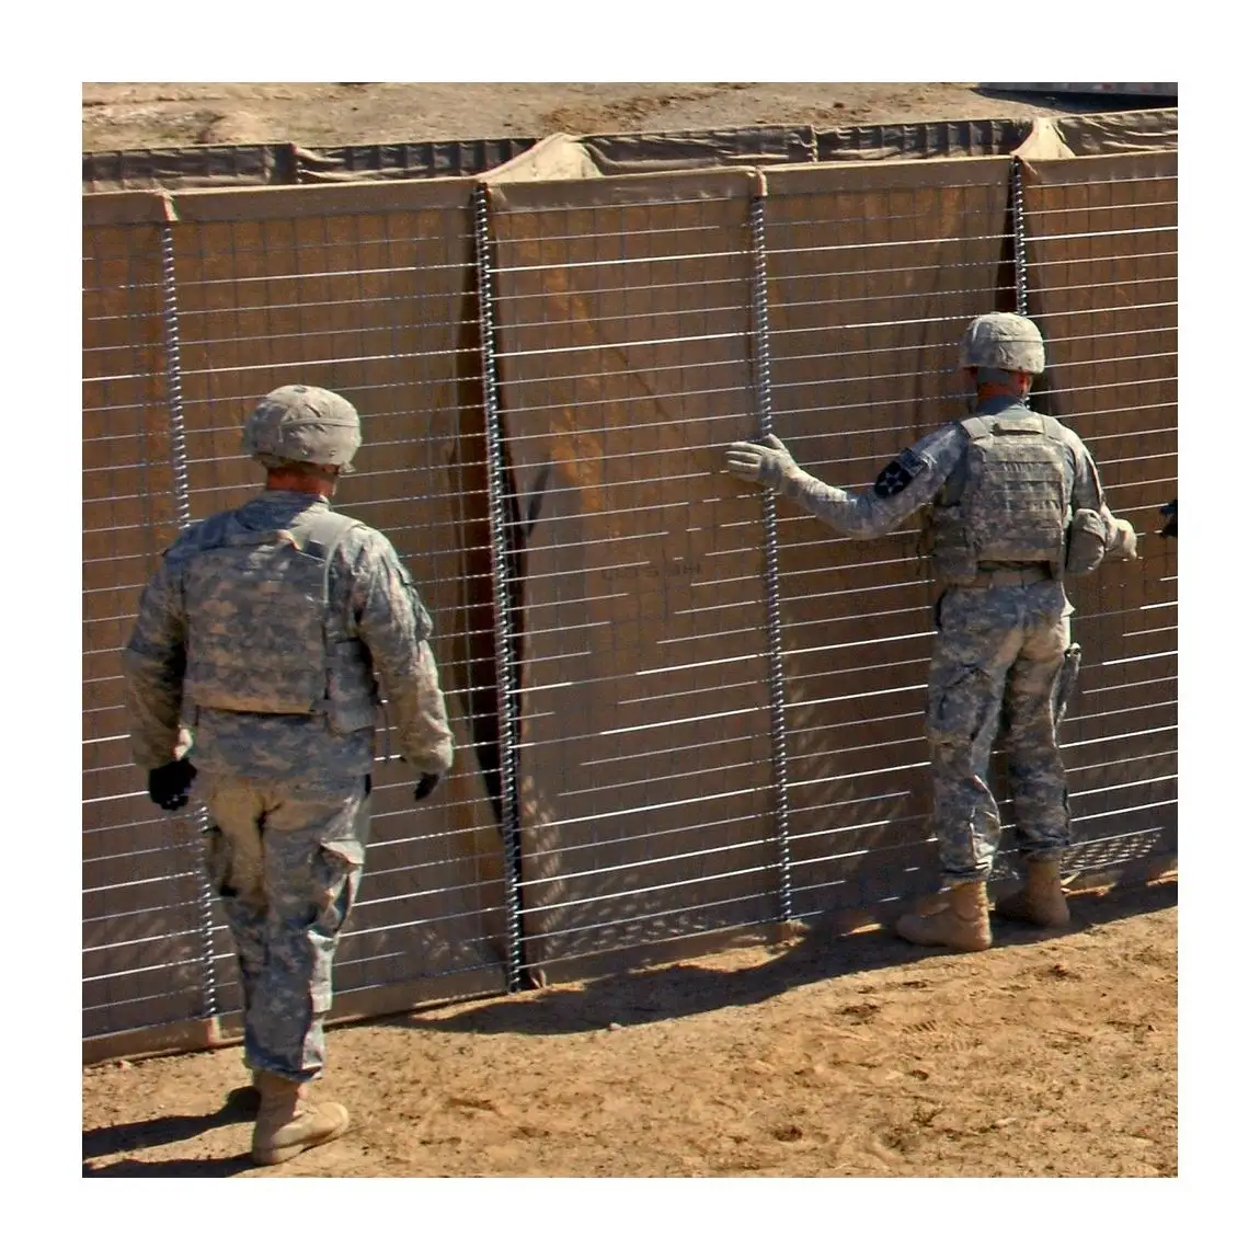
[[[333,955],[363,872],[365,784],[203,775],[207,864],[236,944],[249,1067],[294,1081],[324,1068]]]

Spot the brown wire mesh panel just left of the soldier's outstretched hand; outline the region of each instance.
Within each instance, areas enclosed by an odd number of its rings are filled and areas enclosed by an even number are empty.
[[[493,193],[528,963],[775,915],[748,192]]]

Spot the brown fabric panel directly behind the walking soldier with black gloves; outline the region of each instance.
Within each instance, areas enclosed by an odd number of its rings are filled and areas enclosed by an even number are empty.
[[[469,389],[479,359],[469,324],[467,188],[412,186],[407,208],[389,189],[373,189],[377,195],[355,199],[355,210],[338,193],[299,203],[291,190],[183,194],[170,233],[193,519],[261,485],[262,470],[239,454],[239,442],[262,394],[299,381],[344,392],[362,413],[365,444],[336,507],[386,530],[436,624],[456,761],[422,806],[411,800],[413,771],[399,761],[377,765],[373,843],[336,963],[345,1007],[354,990],[402,983],[416,984],[418,1000],[426,976],[451,973],[476,975],[480,988],[496,975],[493,987],[501,987],[504,919],[501,849],[472,747],[476,714],[466,711],[475,675],[493,658],[479,585],[489,562],[475,539],[486,499],[479,397]],[[161,346],[160,329],[152,344]],[[121,597],[116,648],[156,554],[137,546],[125,571],[111,570],[113,583],[126,581],[113,592]],[[116,655],[110,662],[116,673]],[[121,712],[111,717],[122,728]],[[142,789],[125,742],[111,747],[115,777]],[[132,803],[147,824],[141,834],[184,825],[144,796]],[[147,874],[139,861],[134,877]],[[217,906],[215,925],[214,1008],[222,1014],[239,999]]]

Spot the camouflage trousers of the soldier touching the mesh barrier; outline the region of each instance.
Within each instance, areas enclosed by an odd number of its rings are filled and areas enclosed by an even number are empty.
[[[937,605],[927,678],[935,830],[948,885],[987,879],[1000,818],[988,785],[1004,724],[1019,849],[1053,857],[1068,842],[1067,780],[1055,737],[1055,684],[1072,607],[1060,582],[953,587]]]

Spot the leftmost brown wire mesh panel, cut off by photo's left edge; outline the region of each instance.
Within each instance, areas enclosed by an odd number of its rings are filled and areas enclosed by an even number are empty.
[[[175,533],[158,224],[83,232],[83,1036],[203,1013],[197,838],[131,764],[120,651]]]

